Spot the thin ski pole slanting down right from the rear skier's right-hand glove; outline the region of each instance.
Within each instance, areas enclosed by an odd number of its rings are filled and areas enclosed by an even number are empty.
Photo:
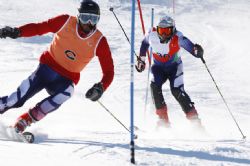
[[[208,71],[210,77],[212,78],[212,80],[213,80],[213,82],[214,82],[214,84],[215,84],[215,87],[216,87],[217,91],[219,92],[219,94],[220,94],[220,96],[221,96],[221,98],[222,98],[224,104],[225,104],[226,107],[227,107],[228,112],[230,113],[230,115],[231,115],[231,117],[233,118],[233,120],[234,120],[236,126],[238,127],[238,129],[239,129],[239,131],[240,131],[240,133],[241,133],[241,135],[242,135],[242,139],[246,139],[246,136],[243,134],[243,132],[242,132],[242,130],[241,130],[239,124],[237,123],[237,121],[236,121],[236,119],[235,119],[233,113],[231,112],[231,110],[230,110],[230,108],[229,108],[229,106],[228,106],[228,104],[227,104],[225,98],[223,97],[223,95],[222,95],[222,93],[221,93],[221,91],[220,91],[218,85],[216,84],[215,79],[214,79],[214,77],[212,76],[212,74],[211,74],[211,72],[210,72],[210,70],[209,70],[209,68],[208,68],[208,66],[207,66],[207,64],[206,64],[206,61],[204,60],[203,57],[201,58],[201,61],[202,61],[203,64],[205,65],[205,67],[206,67],[206,69],[207,69],[207,71]]]

